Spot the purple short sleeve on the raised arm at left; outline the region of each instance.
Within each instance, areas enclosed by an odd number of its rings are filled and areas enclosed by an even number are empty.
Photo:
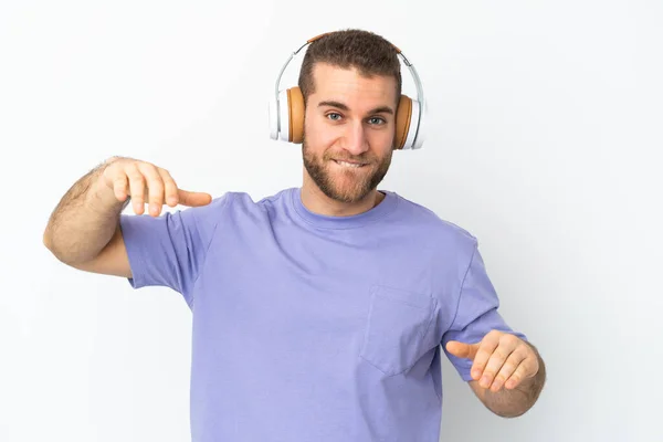
[[[207,206],[160,217],[122,214],[119,225],[129,259],[134,288],[164,286],[180,293],[192,306],[192,287],[201,271],[229,196]]]

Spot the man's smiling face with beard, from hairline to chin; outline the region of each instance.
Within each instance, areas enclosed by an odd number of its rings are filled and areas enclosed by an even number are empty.
[[[396,78],[365,77],[324,63],[314,66],[315,92],[304,119],[304,167],[330,199],[358,202],[391,164]]]

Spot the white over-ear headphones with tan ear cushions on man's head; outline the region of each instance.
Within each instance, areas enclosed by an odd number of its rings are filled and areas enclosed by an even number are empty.
[[[280,91],[281,77],[283,72],[302,49],[318,40],[320,36],[327,35],[324,33],[313,39],[309,39],[298,50],[293,52],[286,60],[285,64],[276,78],[276,87],[274,95],[270,98],[270,138],[281,139],[283,141],[301,144],[304,136],[304,96],[299,87],[291,87]],[[412,99],[407,95],[401,95],[396,112],[396,138],[394,149],[419,149],[423,144],[423,123],[425,116],[425,103],[423,101],[423,87],[417,70],[401,52],[400,49],[393,46],[396,53],[401,56],[417,86],[417,98]]]

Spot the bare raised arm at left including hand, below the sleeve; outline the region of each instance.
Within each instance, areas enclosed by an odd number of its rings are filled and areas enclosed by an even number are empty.
[[[167,170],[131,158],[114,157],[82,177],[51,214],[44,245],[63,263],[88,272],[131,277],[120,229],[122,210],[134,201],[134,211],[158,217],[168,206],[204,206],[211,197],[177,188]]]

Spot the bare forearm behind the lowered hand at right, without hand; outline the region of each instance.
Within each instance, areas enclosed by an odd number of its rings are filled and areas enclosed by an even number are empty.
[[[497,392],[490,389],[482,389],[484,404],[495,414],[503,418],[516,418],[529,410],[537,401],[546,382],[546,366],[536,348],[534,348],[539,369],[537,373],[528,379],[523,380],[516,388],[501,388]]]

